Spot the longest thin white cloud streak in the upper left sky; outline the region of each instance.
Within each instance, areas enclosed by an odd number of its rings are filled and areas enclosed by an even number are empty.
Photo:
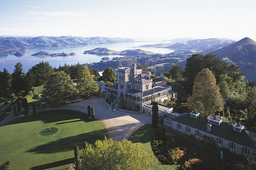
[[[66,12],[66,11],[53,11],[53,12],[38,12],[31,11],[31,14],[37,14],[42,16],[59,16],[59,17],[82,17],[87,16],[85,12]]]

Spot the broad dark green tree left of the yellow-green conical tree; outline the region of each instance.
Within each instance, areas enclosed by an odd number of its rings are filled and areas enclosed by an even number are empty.
[[[52,103],[59,103],[70,100],[76,94],[73,80],[63,71],[50,75],[47,84],[44,86],[43,94]]]

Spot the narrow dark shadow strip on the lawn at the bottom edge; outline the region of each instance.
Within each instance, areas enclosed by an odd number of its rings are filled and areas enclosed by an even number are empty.
[[[62,165],[67,165],[74,163],[74,158],[69,158],[69,159],[64,159],[56,162],[52,162],[49,164],[43,164],[43,165],[38,165],[38,166],[33,166],[30,168],[30,170],[43,170],[43,169],[49,169],[49,168],[54,168]]]

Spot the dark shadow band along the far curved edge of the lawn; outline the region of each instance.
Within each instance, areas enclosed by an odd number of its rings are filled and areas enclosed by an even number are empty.
[[[19,124],[19,123],[27,123],[32,121],[43,121],[44,123],[53,123],[58,121],[65,121],[71,119],[81,119],[81,121],[89,121],[91,119],[86,119],[87,114],[78,112],[78,111],[71,111],[71,110],[51,110],[51,111],[44,111],[39,112],[36,115],[21,117],[9,122],[6,125],[12,124]]]

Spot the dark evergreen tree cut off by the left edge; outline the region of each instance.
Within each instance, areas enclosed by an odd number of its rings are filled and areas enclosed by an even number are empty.
[[[0,72],[0,96],[8,97],[10,95],[11,74],[6,68]]]

